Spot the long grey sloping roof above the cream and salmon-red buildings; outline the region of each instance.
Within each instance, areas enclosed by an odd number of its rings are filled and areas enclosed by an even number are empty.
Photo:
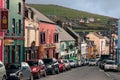
[[[30,6],[26,6],[26,7],[27,7],[27,9],[32,10],[37,15],[37,20],[38,21],[43,21],[43,22],[48,22],[48,23],[55,24],[52,20],[50,20],[48,17],[43,15],[41,12],[39,12],[35,8],[32,8]]]

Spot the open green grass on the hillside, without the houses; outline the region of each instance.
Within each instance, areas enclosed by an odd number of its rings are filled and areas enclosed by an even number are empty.
[[[92,13],[88,13],[84,11],[78,11],[78,10],[65,8],[65,7],[58,6],[58,5],[43,5],[43,4],[27,4],[27,5],[37,9],[39,12],[48,16],[53,21],[71,20],[75,23],[75,21],[80,18],[94,18],[95,20],[99,19],[100,21],[96,23],[85,24],[85,26],[87,26],[88,28],[88,31],[90,31],[89,28],[91,27],[93,28],[96,27],[96,29],[97,27],[102,27],[102,28],[105,27],[108,20],[111,19],[111,17],[108,17],[108,16],[92,14]],[[54,18],[53,17],[51,18],[51,16],[54,16]],[[57,18],[55,18],[55,16],[57,16]],[[79,30],[75,30],[75,31],[79,31]]]

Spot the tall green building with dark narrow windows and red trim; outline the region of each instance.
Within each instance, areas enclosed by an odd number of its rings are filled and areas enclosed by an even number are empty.
[[[7,0],[8,30],[4,38],[4,63],[24,61],[25,0]]]

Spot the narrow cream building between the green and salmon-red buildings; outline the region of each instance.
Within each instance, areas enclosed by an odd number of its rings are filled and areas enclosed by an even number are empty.
[[[33,8],[26,7],[25,11],[25,60],[38,59],[38,21]]]

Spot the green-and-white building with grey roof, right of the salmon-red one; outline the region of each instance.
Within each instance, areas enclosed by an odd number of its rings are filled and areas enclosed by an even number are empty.
[[[58,58],[71,58],[76,55],[75,39],[69,35],[63,28],[56,26],[59,34],[58,43],[56,43],[56,53]]]

